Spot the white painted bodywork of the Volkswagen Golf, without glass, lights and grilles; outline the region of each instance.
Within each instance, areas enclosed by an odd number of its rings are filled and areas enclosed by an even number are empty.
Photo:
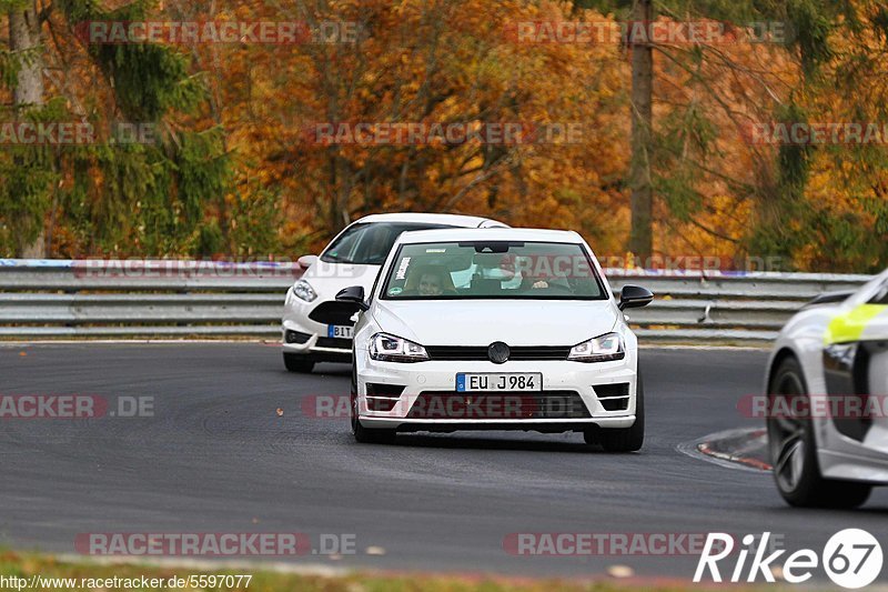
[[[369,295],[370,310],[361,313],[355,327],[355,373],[360,422],[365,428],[412,428],[423,424],[451,424],[470,428],[484,423],[522,428],[531,420],[502,419],[414,419],[407,418],[422,392],[454,391],[457,373],[497,372],[543,374],[544,391],[576,391],[591,417],[584,419],[534,419],[534,424],[596,424],[601,428],[629,428],[635,422],[637,393],[637,339],[618,309],[601,265],[588,244],[575,232],[528,229],[506,230],[430,230],[406,232],[395,243],[381,278],[394,264],[397,248],[405,243],[458,242],[473,240],[508,240],[527,242],[569,242],[581,244],[592,258],[596,273],[608,298],[606,300],[385,300],[381,299],[382,281]],[[416,363],[371,359],[370,339],[380,332],[408,339],[422,345],[487,347],[502,341],[509,347],[573,347],[609,332],[623,337],[626,357],[623,360],[584,363],[567,360],[509,360],[495,364],[487,360],[430,360]],[[392,411],[372,411],[367,404],[367,383],[404,385],[398,404]],[[628,384],[625,410],[606,411],[595,385]]]

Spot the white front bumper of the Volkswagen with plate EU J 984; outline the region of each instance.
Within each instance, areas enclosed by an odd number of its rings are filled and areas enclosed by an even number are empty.
[[[634,352],[612,362],[541,360],[494,364],[487,361],[379,362],[362,350],[355,363],[359,418],[365,428],[564,432],[593,425],[630,428],[636,420],[637,359]],[[543,388],[535,392],[457,393],[456,374],[463,372],[538,372],[543,377]],[[397,394],[401,387],[403,391]],[[435,399],[440,399],[436,405],[430,403]],[[473,401],[466,404],[465,399]],[[568,399],[576,405],[559,404]],[[451,404],[454,400],[455,404]],[[478,400],[486,402],[478,408]],[[547,405],[548,401],[558,404]],[[509,404],[513,412],[504,411]],[[498,413],[490,412],[493,407]],[[431,413],[432,408],[437,412]],[[546,408],[555,412],[547,412]],[[559,411],[564,409],[573,411]]]

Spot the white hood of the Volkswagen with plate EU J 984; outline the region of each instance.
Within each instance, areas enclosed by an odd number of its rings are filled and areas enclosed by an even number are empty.
[[[377,300],[380,328],[422,345],[575,345],[613,331],[612,300]]]

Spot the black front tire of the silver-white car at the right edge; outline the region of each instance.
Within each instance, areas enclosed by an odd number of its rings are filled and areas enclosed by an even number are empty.
[[[780,362],[771,374],[768,397],[787,399],[787,405],[778,409],[795,409],[793,400],[808,397],[808,387],[798,360],[790,357]],[[774,405],[770,408],[774,409]],[[789,505],[851,509],[867,501],[872,491],[871,485],[857,481],[824,479],[820,474],[810,418],[769,417],[767,428],[774,481]]]

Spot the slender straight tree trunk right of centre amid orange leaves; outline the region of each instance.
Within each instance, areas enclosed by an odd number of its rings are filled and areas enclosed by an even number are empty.
[[[633,21],[649,30],[652,0],[636,0]],[[632,30],[632,28],[629,29]],[[652,102],[654,87],[654,53],[650,43],[632,43],[632,234],[629,250],[643,260],[654,248],[654,195],[650,187]]]

